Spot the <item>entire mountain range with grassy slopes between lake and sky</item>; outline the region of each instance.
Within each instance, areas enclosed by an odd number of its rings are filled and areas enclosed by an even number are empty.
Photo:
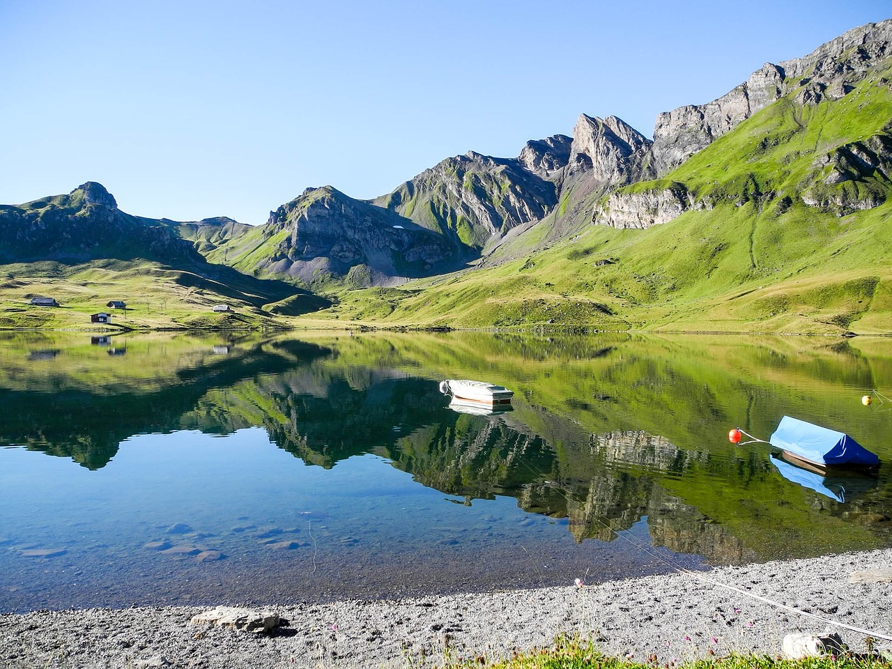
[[[307,188],[257,227],[132,216],[95,182],[0,206],[0,325],[31,318],[18,305],[50,287],[86,309],[99,268],[110,291],[152,294],[151,279],[167,282],[165,304],[186,300],[179,288],[193,311],[232,301],[245,326],[313,312],[885,333],[890,39],[892,20],[881,21],[764,63],[710,103],[660,114],[653,139],[581,114],[572,137],[528,141],[516,158],[450,157],[374,200]],[[155,311],[134,325],[157,325]],[[170,311],[170,325],[215,325]]]

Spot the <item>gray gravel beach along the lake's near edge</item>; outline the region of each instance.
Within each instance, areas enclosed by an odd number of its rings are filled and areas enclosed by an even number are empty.
[[[439,666],[549,646],[560,633],[660,663],[731,652],[778,656],[790,632],[838,632],[863,652],[863,632],[720,584],[888,637],[892,583],[853,583],[852,574],[890,568],[892,549],[884,549],[582,587],[567,574],[564,588],[269,606],[286,620],[269,634],[190,624],[207,607],[8,614],[0,615],[0,667]]]

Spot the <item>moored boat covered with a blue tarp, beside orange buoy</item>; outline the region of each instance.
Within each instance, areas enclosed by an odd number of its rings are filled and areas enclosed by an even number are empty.
[[[769,442],[790,455],[820,467],[871,467],[880,462],[848,434],[784,416]]]

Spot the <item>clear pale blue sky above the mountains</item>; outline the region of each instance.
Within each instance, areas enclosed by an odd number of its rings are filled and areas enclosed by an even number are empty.
[[[650,136],[888,0],[0,0],[0,202],[106,186],[153,218],[266,221],[580,113]],[[0,240],[2,243],[2,240]]]

